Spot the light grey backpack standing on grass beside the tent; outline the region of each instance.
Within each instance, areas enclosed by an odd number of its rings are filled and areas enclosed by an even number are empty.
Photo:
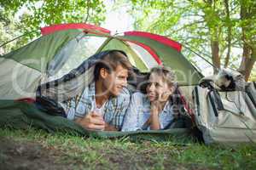
[[[256,142],[255,82],[248,83],[246,91],[217,89],[212,84],[193,91],[195,123],[205,143]]]

